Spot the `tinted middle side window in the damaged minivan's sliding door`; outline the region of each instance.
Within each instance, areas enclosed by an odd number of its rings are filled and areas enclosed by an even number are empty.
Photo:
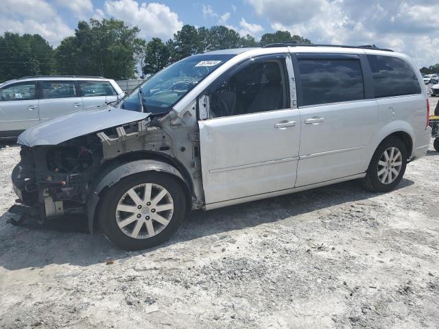
[[[364,99],[363,73],[359,60],[299,59],[298,67],[303,106]]]

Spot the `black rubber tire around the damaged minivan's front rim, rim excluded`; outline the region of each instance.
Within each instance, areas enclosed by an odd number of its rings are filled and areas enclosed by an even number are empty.
[[[174,211],[169,224],[158,234],[146,239],[134,239],[126,235],[117,224],[116,208],[119,199],[133,186],[152,183],[167,189],[174,202]],[[97,219],[99,228],[115,245],[126,250],[139,250],[154,247],[167,241],[185,218],[187,204],[182,186],[177,178],[165,173],[146,172],[130,175],[110,187],[99,204]],[[143,226],[142,229],[144,229]]]

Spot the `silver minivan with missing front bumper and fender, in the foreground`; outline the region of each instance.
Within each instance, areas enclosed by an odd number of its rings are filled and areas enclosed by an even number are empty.
[[[376,47],[211,51],[110,105],[19,136],[11,212],[83,213],[91,231],[142,249],[169,239],[188,210],[347,180],[391,191],[431,140],[416,64]]]

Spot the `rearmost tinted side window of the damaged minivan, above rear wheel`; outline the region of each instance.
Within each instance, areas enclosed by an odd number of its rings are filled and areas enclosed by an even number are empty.
[[[412,67],[392,56],[368,55],[375,97],[420,94],[418,78]]]

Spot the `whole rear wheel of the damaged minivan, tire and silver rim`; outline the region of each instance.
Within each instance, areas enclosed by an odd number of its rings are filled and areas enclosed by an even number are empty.
[[[392,191],[399,184],[407,166],[407,149],[399,138],[385,139],[372,156],[363,183],[372,192]]]

